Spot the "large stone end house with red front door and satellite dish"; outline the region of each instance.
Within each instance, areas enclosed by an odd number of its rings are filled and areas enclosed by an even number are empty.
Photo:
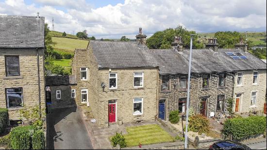
[[[76,99],[91,107],[99,126],[157,116],[158,67],[141,41],[91,40],[75,50]]]

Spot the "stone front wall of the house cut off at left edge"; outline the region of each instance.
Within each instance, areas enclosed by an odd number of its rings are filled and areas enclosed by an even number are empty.
[[[40,65],[41,108],[45,108],[44,50],[38,49]],[[20,76],[6,77],[5,55],[18,55]],[[39,105],[36,49],[0,49],[0,107],[7,108],[5,88],[22,87],[23,104],[26,107]],[[9,108],[9,118],[19,119],[19,109]]]

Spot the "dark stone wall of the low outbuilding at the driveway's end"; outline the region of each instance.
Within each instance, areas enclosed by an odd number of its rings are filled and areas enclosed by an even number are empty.
[[[50,86],[52,108],[65,108],[76,106],[75,98],[71,98],[71,89],[75,89],[75,85],[57,85]],[[61,98],[56,99],[56,91],[61,91]],[[75,91],[77,97],[77,91]]]

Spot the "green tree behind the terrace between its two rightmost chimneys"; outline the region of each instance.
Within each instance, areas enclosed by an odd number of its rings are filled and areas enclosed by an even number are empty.
[[[222,32],[219,31],[215,33],[214,37],[217,38],[218,48],[219,49],[231,49],[234,48],[234,45],[236,43],[239,43],[239,38],[241,37],[241,34],[239,32]]]

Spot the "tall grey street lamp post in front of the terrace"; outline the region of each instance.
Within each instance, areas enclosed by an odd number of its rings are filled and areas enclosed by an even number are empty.
[[[184,149],[187,149],[187,127],[188,127],[188,114],[189,114],[189,97],[190,97],[190,74],[191,74],[191,59],[192,59],[192,43],[193,43],[193,35],[190,37],[190,54],[189,54],[189,68],[188,68],[188,83],[187,83],[187,100],[186,100],[186,124],[185,124],[185,134],[184,134]]]

